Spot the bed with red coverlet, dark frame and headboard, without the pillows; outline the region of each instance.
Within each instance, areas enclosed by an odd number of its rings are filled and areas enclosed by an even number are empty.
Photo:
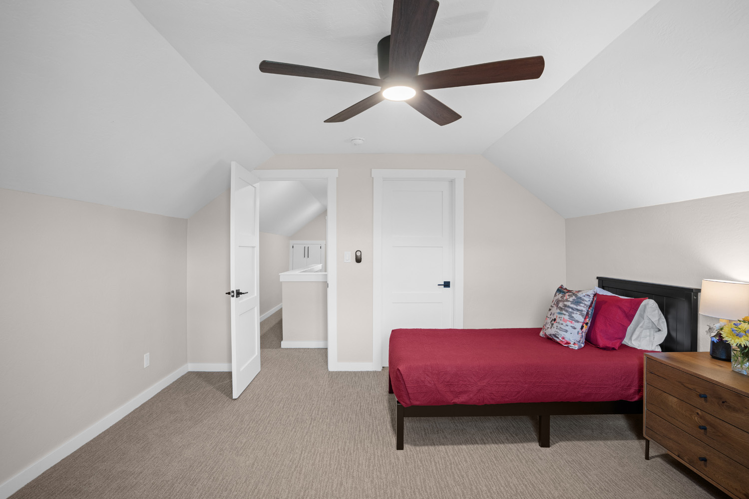
[[[697,351],[699,289],[601,277],[598,287],[654,300],[667,323],[661,350]],[[645,351],[625,345],[616,351],[571,350],[539,337],[539,331],[393,331],[389,392],[396,398],[395,448],[404,448],[407,417],[538,416],[539,446],[550,447],[553,415],[642,413]],[[565,360],[570,355],[574,363]],[[565,382],[581,378],[594,382],[575,388]]]

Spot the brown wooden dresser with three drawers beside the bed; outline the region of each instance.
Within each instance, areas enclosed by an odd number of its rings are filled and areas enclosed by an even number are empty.
[[[749,499],[749,376],[707,352],[645,355],[650,441],[733,498]]]

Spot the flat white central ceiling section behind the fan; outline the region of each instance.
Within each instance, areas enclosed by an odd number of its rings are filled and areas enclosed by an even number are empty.
[[[430,91],[463,118],[437,126],[404,102],[323,123],[378,91],[260,73],[270,61],[377,76],[392,0],[133,0],[274,153],[483,153],[657,0],[443,0],[420,71],[543,55],[541,79]],[[366,138],[354,150],[349,139]]]

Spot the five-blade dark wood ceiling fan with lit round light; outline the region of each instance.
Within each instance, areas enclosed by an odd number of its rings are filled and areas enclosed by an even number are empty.
[[[306,76],[381,88],[376,94],[329,117],[325,123],[348,120],[387,99],[405,101],[440,126],[459,120],[461,115],[427,94],[426,90],[536,79],[544,72],[544,58],[539,55],[419,75],[419,61],[439,6],[437,0],[393,2],[390,34],[377,43],[380,78],[273,61],[262,61],[260,70],[263,73]]]

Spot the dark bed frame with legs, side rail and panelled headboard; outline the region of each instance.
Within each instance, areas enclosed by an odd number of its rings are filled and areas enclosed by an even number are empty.
[[[619,296],[655,300],[663,312],[668,333],[661,343],[664,352],[697,352],[697,296],[691,287],[666,286],[624,279],[598,278],[598,287]],[[390,378],[388,376],[388,384]],[[389,385],[392,394],[392,385]],[[550,447],[551,416],[569,414],[642,414],[643,401],[610,402],[519,402],[488,405],[410,405],[395,400],[395,448],[403,449],[406,417],[538,416],[539,446]]]

